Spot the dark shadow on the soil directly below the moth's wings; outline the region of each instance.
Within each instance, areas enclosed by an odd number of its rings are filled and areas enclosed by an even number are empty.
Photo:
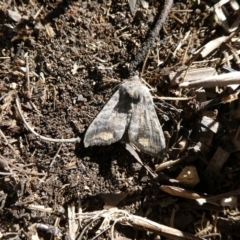
[[[76,145],[75,154],[79,161],[82,161],[86,166],[97,164],[98,177],[111,182],[112,186],[110,187],[124,190],[120,187],[121,183],[119,184],[119,181],[124,182],[128,178],[132,178],[132,176],[141,178],[142,166],[137,163],[136,159],[126,150],[125,145],[120,142],[109,146],[88,148],[84,148],[81,142]],[[148,161],[148,158],[146,156],[145,160]]]

